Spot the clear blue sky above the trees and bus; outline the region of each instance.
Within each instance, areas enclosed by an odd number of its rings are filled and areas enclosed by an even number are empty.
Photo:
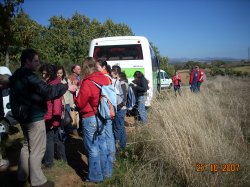
[[[248,59],[250,0],[25,0],[22,8],[45,26],[75,12],[124,23],[169,58]]]

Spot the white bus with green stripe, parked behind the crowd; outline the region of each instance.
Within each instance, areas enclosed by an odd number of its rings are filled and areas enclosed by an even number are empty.
[[[106,60],[112,67],[119,65],[126,73],[128,81],[134,78],[135,71],[141,71],[149,81],[146,106],[150,106],[152,97],[160,90],[160,62],[143,36],[117,36],[97,38],[91,41],[89,56],[96,60]]]

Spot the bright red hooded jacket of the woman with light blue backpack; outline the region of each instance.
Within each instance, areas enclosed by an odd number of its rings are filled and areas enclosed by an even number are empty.
[[[102,72],[94,72],[82,80],[77,97],[74,97],[75,104],[80,110],[82,118],[94,116],[99,103],[100,89],[91,81],[99,85],[109,85],[110,80]]]

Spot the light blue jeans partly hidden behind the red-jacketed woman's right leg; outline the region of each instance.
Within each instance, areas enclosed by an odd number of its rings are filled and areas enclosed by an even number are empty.
[[[106,136],[106,143],[108,148],[108,159],[110,162],[114,163],[115,158],[115,138],[113,133],[113,122],[112,120],[107,120],[104,126],[104,133]]]

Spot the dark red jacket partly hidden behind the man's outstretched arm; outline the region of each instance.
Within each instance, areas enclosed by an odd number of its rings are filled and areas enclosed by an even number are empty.
[[[48,84],[59,84],[61,80],[55,79]],[[47,113],[44,116],[45,124],[47,127],[58,127],[61,123],[62,117],[62,97],[54,100],[47,101]]]

